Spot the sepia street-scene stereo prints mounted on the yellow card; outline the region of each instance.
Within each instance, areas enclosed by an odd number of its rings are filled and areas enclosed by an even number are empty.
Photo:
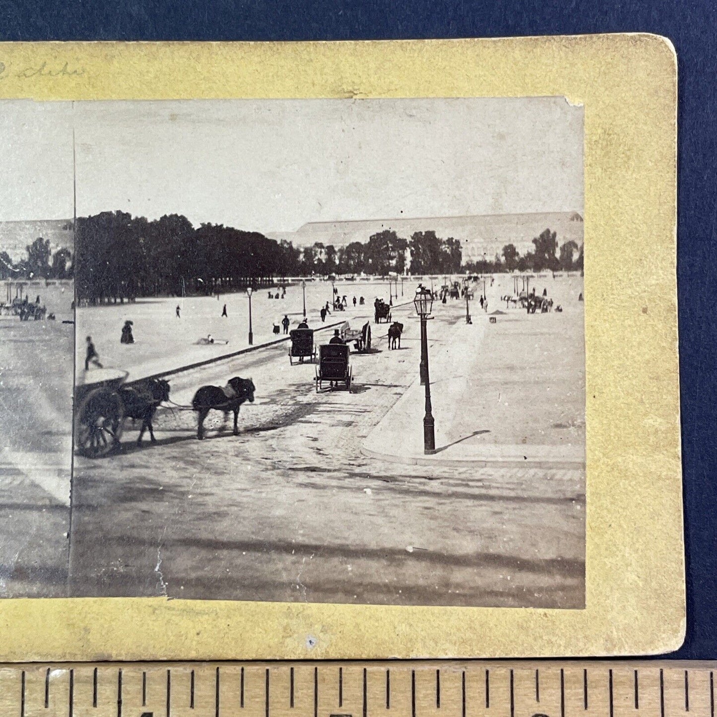
[[[0,597],[585,607],[580,105],[0,117]]]

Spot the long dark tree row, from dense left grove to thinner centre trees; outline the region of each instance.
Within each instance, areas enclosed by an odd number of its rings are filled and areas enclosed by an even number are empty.
[[[161,294],[216,293],[297,275],[413,273],[460,270],[457,239],[415,232],[373,234],[366,243],[300,249],[221,224],[195,228],[171,214],[153,221],[125,212],[77,219],[77,296],[90,303]]]

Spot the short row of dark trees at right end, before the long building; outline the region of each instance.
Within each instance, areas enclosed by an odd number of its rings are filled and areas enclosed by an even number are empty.
[[[467,262],[464,268],[469,272],[488,274],[494,272],[533,271],[582,271],[583,245],[569,239],[560,244],[556,232],[546,229],[533,239],[535,250],[520,255],[515,244],[505,244],[495,259]]]

